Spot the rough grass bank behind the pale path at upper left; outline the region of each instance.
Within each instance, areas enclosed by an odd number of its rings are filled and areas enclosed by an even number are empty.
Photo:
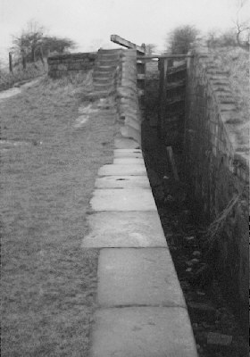
[[[13,87],[16,83],[28,79],[34,79],[46,73],[46,64],[41,62],[27,63],[27,69],[23,70],[21,65],[13,68],[13,72],[0,69],[0,91]]]

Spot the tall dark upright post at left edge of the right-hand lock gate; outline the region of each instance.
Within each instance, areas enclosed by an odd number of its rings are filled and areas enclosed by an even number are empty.
[[[162,123],[166,112],[166,75],[168,71],[168,59],[159,58],[158,68],[160,71],[160,83],[159,83],[159,112],[157,123],[157,135],[162,137]]]

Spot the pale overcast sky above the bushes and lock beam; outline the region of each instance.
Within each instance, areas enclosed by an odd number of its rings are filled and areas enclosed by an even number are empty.
[[[236,17],[237,0],[0,0],[0,58],[7,57],[12,35],[31,20],[46,34],[69,37],[76,52],[115,47],[112,34],[141,45],[165,49],[168,32],[190,24],[201,31],[228,29]],[[248,10],[249,10],[248,0]],[[247,6],[246,6],[247,7]],[[249,10],[250,12],[250,10]],[[246,13],[246,10],[245,10]]]

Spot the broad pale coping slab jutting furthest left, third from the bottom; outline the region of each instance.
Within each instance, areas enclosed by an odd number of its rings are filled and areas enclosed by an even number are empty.
[[[158,212],[96,212],[82,247],[167,247]]]

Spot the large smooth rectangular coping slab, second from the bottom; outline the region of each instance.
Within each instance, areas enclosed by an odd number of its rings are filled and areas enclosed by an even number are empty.
[[[97,302],[101,307],[186,307],[169,249],[103,249]]]

